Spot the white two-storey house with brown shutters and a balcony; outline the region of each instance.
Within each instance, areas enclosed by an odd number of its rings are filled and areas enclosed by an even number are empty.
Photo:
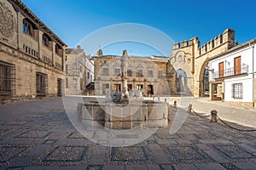
[[[210,98],[254,106],[256,39],[209,59]]]

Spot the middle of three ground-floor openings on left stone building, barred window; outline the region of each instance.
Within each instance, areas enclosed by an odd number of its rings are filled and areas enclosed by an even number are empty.
[[[48,77],[44,73],[37,72],[36,78],[37,95],[45,96],[48,88]]]

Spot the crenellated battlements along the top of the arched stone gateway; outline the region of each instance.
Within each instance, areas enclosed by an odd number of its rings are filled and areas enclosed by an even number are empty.
[[[235,42],[235,31],[231,29],[226,29],[222,34],[219,34],[218,37],[212,38],[209,42],[200,46],[200,41],[198,41],[197,37],[193,37],[183,42],[177,42],[173,45],[172,50],[177,50],[179,48],[187,48],[191,45],[195,45],[195,50],[197,49],[198,54],[206,54],[207,52],[211,51],[213,48],[218,48],[219,46],[223,45],[224,43],[228,43],[228,48],[234,47]]]

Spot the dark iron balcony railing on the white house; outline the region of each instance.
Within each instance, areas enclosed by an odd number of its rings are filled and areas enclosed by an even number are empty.
[[[212,79],[231,77],[231,76],[247,74],[247,73],[248,73],[248,65],[241,65],[241,67],[232,67],[224,71],[213,72]]]

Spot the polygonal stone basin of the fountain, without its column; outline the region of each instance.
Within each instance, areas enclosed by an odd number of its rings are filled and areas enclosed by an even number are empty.
[[[168,103],[144,100],[127,104],[79,103],[79,120],[97,123],[110,129],[167,127],[170,118]]]

